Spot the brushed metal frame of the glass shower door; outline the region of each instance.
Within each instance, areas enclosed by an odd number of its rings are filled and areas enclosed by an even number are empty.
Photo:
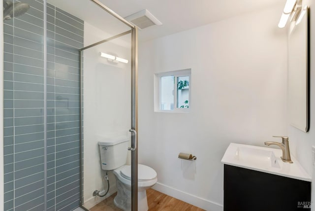
[[[112,36],[110,38],[101,40],[92,45],[79,49],[79,67],[80,67],[80,207],[88,211],[83,206],[83,139],[82,139],[82,51],[93,47],[95,45],[110,41],[123,35],[131,33],[131,129],[138,131],[138,28],[132,23],[126,21],[123,17],[119,16],[113,10],[105,6],[99,0],[91,0],[103,10],[126,24],[131,28],[130,31],[126,31],[119,35]],[[138,146],[135,141],[135,134],[131,135],[131,147],[136,148],[131,150],[131,211],[138,210]],[[136,145],[135,145],[136,144]]]

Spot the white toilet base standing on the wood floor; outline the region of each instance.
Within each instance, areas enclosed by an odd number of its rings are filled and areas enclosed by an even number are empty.
[[[131,211],[131,187],[126,187],[119,179],[116,178],[117,196],[114,198],[116,207]],[[146,190],[138,191],[138,211],[147,211],[148,201]]]

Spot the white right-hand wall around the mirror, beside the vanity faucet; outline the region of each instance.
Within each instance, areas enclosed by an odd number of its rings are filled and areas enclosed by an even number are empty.
[[[307,172],[312,175],[312,145],[315,145],[315,12],[312,6],[315,6],[313,0],[304,0],[303,4],[310,7],[310,130],[308,133],[302,132],[288,124],[288,137],[290,143],[290,152],[298,159]],[[315,179],[315,176],[313,176]],[[313,180],[314,180],[313,179]],[[315,185],[312,185],[312,210],[315,210]]]

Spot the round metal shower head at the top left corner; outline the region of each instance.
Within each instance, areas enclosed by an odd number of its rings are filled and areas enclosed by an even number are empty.
[[[11,1],[3,1],[3,20],[9,20],[26,13],[30,8],[27,3],[12,3]]]

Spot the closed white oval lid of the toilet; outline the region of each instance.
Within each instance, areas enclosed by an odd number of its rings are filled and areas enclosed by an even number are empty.
[[[131,180],[131,166],[125,166],[120,170],[121,176]],[[138,181],[148,181],[157,177],[157,172],[151,167],[138,164]]]

